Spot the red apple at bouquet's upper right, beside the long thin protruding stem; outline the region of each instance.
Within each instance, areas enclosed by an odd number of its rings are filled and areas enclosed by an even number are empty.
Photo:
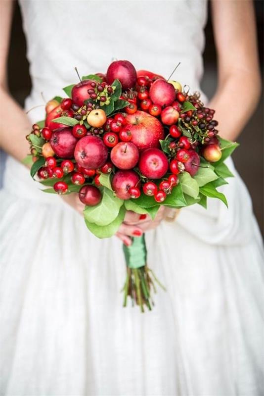
[[[151,85],[149,98],[154,104],[169,106],[176,98],[175,88],[172,84],[160,78]]]

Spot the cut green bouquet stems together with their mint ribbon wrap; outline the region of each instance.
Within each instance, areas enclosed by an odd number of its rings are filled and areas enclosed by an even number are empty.
[[[147,266],[144,234],[141,237],[133,238],[131,246],[123,245],[123,250],[127,264],[127,278],[123,288],[123,306],[127,306],[127,299],[130,296],[132,305],[139,305],[141,312],[144,312],[144,306],[151,310],[154,306],[151,293],[152,291],[156,293],[155,282],[162,289],[166,289]]]

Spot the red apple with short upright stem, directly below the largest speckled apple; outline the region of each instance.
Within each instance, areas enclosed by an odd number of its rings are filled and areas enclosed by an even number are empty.
[[[119,169],[134,168],[138,158],[138,149],[131,142],[120,142],[111,150],[111,161]]]

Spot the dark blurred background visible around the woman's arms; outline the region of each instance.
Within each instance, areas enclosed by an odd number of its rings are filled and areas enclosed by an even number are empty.
[[[242,1],[242,0],[240,0]],[[259,40],[261,70],[263,71],[263,5],[262,0],[254,1]],[[205,73],[202,89],[211,98],[217,85],[216,50],[211,19],[206,25],[206,48],[204,52]],[[11,44],[8,59],[9,88],[14,98],[23,105],[30,92],[28,62],[26,60],[26,43],[22,30],[21,14],[15,2],[14,19],[11,32]],[[256,112],[238,142],[240,147],[233,159],[241,177],[246,183],[253,199],[254,211],[263,231],[263,95]]]

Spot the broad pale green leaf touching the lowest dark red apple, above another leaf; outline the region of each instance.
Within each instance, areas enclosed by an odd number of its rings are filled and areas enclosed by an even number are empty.
[[[122,205],[123,200],[115,197],[112,191],[104,187],[101,202],[96,206],[86,206],[84,215],[88,222],[106,226],[114,221]]]

